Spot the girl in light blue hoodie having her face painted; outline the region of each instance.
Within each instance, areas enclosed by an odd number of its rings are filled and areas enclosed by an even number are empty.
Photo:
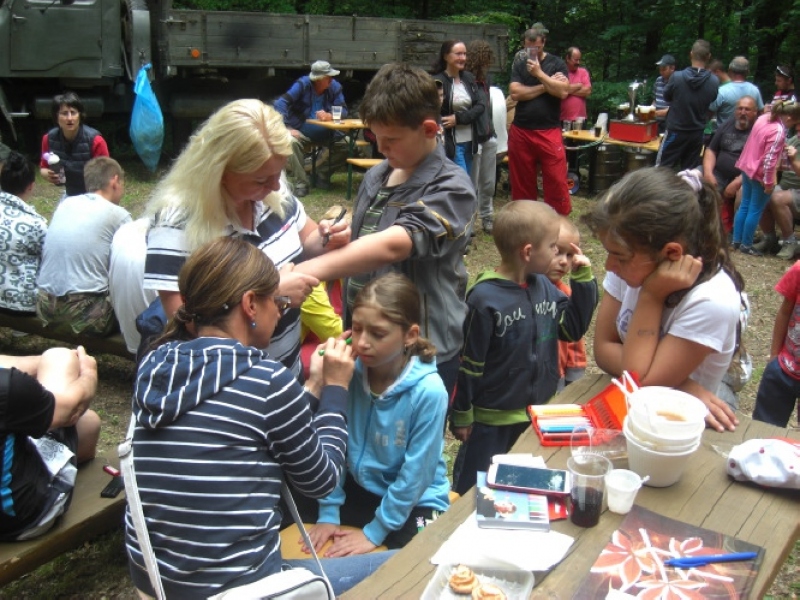
[[[402,548],[449,506],[447,392],[419,321],[419,292],[403,275],[374,279],[355,299],[347,474],[309,531],[315,549],[333,538],[326,556]]]

